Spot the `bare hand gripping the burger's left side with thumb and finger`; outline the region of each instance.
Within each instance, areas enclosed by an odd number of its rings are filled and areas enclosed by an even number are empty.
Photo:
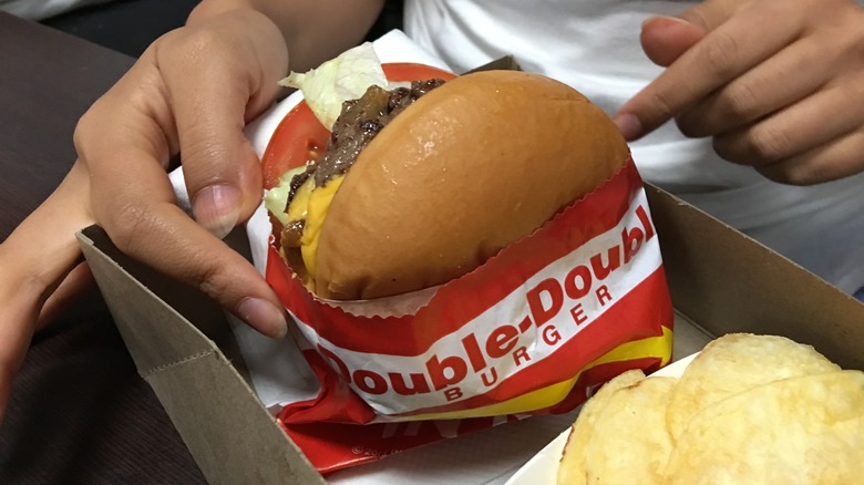
[[[260,203],[258,157],[244,136],[287,72],[287,48],[265,16],[237,9],[155,41],[75,130],[94,219],[120,250],[198,288],[261,333],[287,332],[282,306],[222,240]],[[176,205],[166,168],[182,153],[195,219]]]

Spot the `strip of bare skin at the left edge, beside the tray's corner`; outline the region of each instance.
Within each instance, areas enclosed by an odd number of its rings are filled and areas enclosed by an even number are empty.
[[[93,285],[74,234],[93,223],[86,169],[56,190],[0,244],[0,421],[33,332]]]

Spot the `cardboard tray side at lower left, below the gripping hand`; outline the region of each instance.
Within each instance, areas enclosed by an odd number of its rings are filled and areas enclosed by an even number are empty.
[[[323,483],[208,337],[232,338],[218,306],[125,257],[99,227],[78,238],[138,372],[209,483]]]

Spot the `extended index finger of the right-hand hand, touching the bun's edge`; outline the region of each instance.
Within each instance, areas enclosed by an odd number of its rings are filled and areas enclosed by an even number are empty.
[[[685,18],[716,28],[621,106],[615,121],[628,141],[658,128],[779,52],[798,35],[796,22],[773,21],[789,20],[790,12],[782,2],[757,2],[730,13],[719,0],[686,13]]]

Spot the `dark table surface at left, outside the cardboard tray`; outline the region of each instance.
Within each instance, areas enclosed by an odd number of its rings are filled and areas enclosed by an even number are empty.
[[[60,183],[78,118],[133,61],[0,12],[0,240]],[[203,482],[96,291],[35,334],[0,426],[0,484]]]

